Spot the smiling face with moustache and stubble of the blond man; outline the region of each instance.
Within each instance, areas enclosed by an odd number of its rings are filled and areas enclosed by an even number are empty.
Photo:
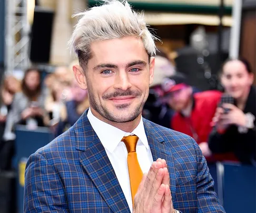
[[[116,123],[141,115],[153,80],[154,58],[135,37],[91,44],[92,58],[85,70],[85,87],[93,113]]]

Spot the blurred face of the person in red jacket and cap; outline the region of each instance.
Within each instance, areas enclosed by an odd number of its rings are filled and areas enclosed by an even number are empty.
[[[192,88],[190,86],[185,86],[182,89],[169,93],[166,100],[172,109],[181,112],[188,106],[191,95]]]

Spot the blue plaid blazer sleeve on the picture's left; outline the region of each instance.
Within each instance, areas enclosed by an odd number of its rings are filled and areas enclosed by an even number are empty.
[[[54,167],[43,155],[28,158],[25,171],[24,213],[66,213],[65,189]]]

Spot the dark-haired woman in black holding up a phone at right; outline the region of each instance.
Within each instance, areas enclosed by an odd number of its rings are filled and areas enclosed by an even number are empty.
[[[229,59],[224,63],[221,83],[234,104],[222,104],[213,118],[209,137],[213,153],[232,151],[241,163],[253,164],[256,150],[256,90],[254,75],[245,59]]]

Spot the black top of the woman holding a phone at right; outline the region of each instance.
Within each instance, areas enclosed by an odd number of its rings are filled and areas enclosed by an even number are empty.
[[[243,113],[251,113],[256,117],[256,89],[251,87]],[[213,128],[209,136],[209,148],[213,153],[226,153],[232,151],[244,164],[255,162],[256,152],[256,122],[254,128],[247,133],[239,133],[238,126],[231,125],[223,134]]]

